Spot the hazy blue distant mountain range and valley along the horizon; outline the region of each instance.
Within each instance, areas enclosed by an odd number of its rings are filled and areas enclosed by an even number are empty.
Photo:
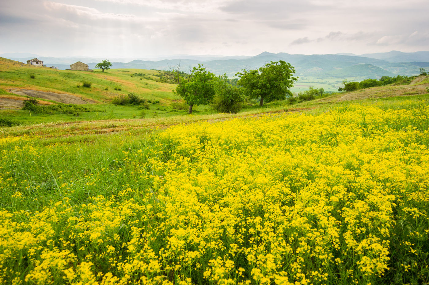
[[[0,54],[13,60],[26,62],[27,59],[37,57],[44,61],[47,66],[57,66],[60,69],[69,68],[69,65],[82,61],[88,63],[91,69],[100,62],[100,58],[91,57],[44,57],[28,54],[27,57],[15,57],[22,54]],[[429,68],[429,51],[415,53],[403,53],[390,51],[388,53],[367,53],[355,55],[351,53],[339,54],[289,54],[263,52],[256,56],[217,56],[217,55],[178,55],[168,56],[162,60],[142,59],[109,59],[112,68],[142,68],[169,70],[180,64],[182,71],[187,71],[198,63],[215,74],[226,73],[232,77],[236,72],[247,69],[256,69],[270,61],[284,60],[295,67],[296,75],[300,77],[314,78],[347,78],[366,79],[380,78],[382,76],[416,75],[420,68]]]

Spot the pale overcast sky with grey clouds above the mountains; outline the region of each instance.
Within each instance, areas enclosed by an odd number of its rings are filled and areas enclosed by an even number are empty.
[[[429,50],[428,0],[1,0],[0,53],[174,54]]]

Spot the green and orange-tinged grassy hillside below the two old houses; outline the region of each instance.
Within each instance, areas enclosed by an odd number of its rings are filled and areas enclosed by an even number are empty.
[[[100,120],[100,119],[134,119],[152,118],[158,116],[176,116],[185,114],[187,110],[177,110],[172,103],[183,102],[172,93],[175,84],[160,82],[161,71],[144,69],[109,69],[102,71],[70,71],[55,70],[21,64],[10,59],[0,58],[0,104],[16,103],[15,109],[3,110],[0,116],[8,117],[18,124],[31,124],[41,122]],[[30,78],[30,77],[34,78]],[[91,82],[91,88],[83,86],[84,82]],[[79,86],[79,87],[78,87]],[[120,89],[120,90],[115,90]],[[61,93],[75,95],[90,104],[94,112],[72,114],[55,113],[53,115],[31,114],[19,110],[23,107],[22,100],[25,95],[17,95],[14,90],[36,90],[53,92],[62,98]],[[107,90],[106,90],[107,89]],[[25,91],[24,90],[24,91]],[[115,106],[110,104],[113,98],[134,93],[140,98],[152,101],[149,110],[139,109],[139,106]],[[57,103],[54,98],[37,98],[41,104]],[[157,103],[159,101],[159,103]],[[155,104],[154,104],[155,103]],[[10,105],[10,104],[9,104]],[[11,109],[11,108],[7,108]],[[185,108],[186,109],[186,108]],[[195,113],[210,113],[207,107],[200,106],[194,109]]]

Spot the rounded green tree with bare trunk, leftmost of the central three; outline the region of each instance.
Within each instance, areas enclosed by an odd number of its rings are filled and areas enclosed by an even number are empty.
[[[175,93],[189,105],[189,114],[193,105],[206,105],[215,97],[215,74],[206,71],[200,63],[192,68],[187,77],[177,75],[176,82]]]

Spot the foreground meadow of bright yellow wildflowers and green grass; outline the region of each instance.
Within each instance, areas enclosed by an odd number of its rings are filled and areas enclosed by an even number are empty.
[[[0,141],[0,282],[429,282],[429,106]],[[106,140],[106,138],[103,138]]]

